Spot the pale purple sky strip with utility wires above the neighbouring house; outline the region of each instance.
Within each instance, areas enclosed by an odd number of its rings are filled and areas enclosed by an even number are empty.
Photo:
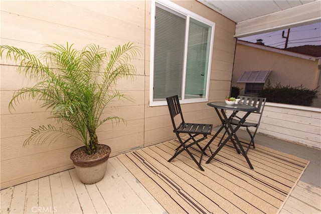
[[[256,43],[256,40],[262,39],[266,46],[283,49],[286,39],[282,38],[282,31],[243,37],[239,40]],[[287,29],[284,29],[284,36],[287,36]],[[290,29],[287,47],[303,45],[321,45],[321,22]]]

